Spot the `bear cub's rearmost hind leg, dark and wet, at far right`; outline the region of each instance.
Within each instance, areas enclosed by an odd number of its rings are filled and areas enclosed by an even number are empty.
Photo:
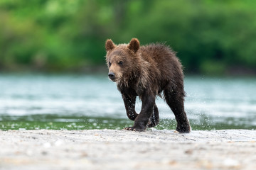
[[[186,112],[184,111],[184,96],[185,92],[183,89],[181,92],[165,90],[164,96],[166,103],[171,108],[171,111],[174,112],[177,128],[176,130],[181,133],[188,133],[191,131],[191,127],[188,122],[188,118],[186,116]]]

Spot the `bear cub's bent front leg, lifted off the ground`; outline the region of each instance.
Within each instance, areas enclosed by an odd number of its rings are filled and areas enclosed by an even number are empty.
[[[135,102],[136,102],[136,96],[133,96],[132,98],[127,96],[127,94],[122,94],[122,98],[124,100],[124,106],[125,110],[127,111],[127,116],[130,120],[135,120],[137,118],[137,113],[135,111]]]

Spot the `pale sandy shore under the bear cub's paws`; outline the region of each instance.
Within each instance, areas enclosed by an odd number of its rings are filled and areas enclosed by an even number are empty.
[[[9,130],[0,148],[0,169],[256,169],[255,130]]]

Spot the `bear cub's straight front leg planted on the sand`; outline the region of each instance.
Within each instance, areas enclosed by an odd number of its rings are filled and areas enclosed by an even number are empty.
[[[149,123],[149,118],[153,113],[155,104],[155,97],[149,94],[142,96],[142,111],[137,115],[134,120],[134,125],[132,127],[124,128],[125,130],[134,130],[142,132],[146,130],[146,125]]]

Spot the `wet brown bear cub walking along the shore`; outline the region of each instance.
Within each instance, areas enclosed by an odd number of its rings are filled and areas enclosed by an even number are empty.
[[[178,132],[190,132],[191,127],[184,111],[183,71],[181,62],[168,46],[151,44],[139,46],[133,38],[129,44],[115,45],[112,40],[105,44],[108,77],[117,83],[132,127],[125,130],[144,131],[159,123],[156,96],[164,99],[174,112]],[[142,110],[135,111],[136,97],[142,101]]]

